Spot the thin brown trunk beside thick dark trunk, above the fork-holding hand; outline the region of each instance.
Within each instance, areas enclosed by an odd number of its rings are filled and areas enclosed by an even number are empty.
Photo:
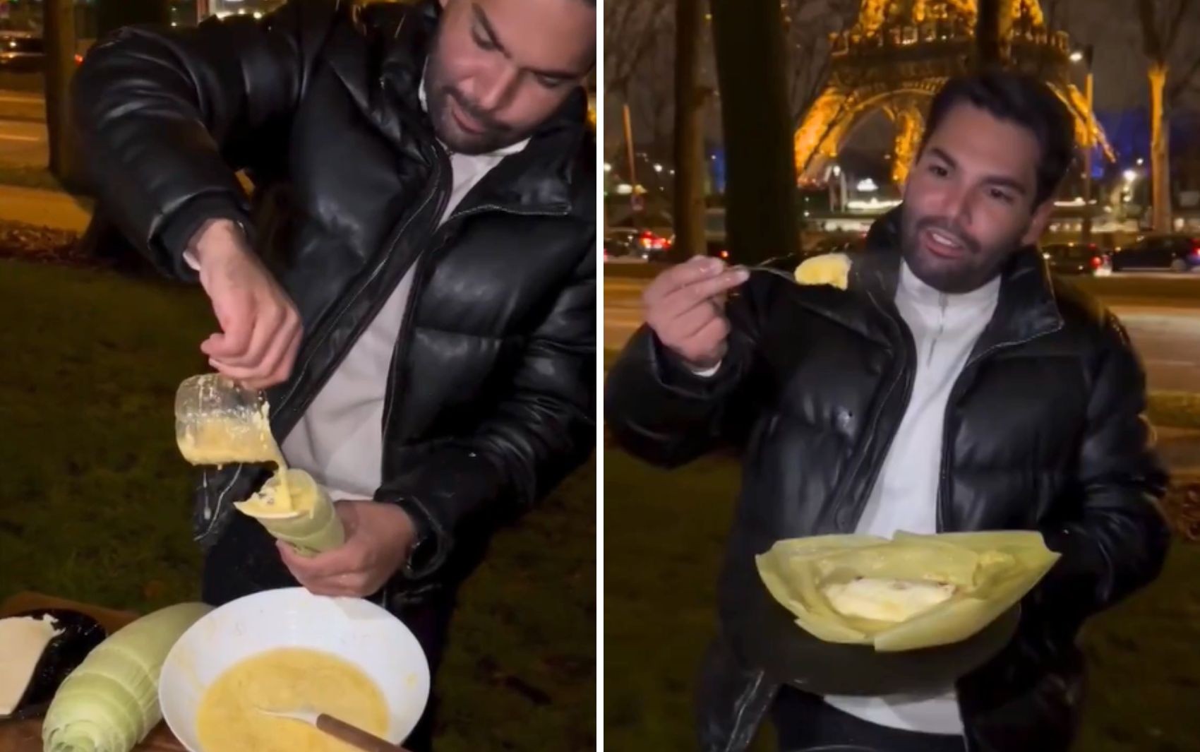
[[[672,256],[707,253],[704,244],[704,92],[700,88],[703,0],[676,1],[674,231]]]

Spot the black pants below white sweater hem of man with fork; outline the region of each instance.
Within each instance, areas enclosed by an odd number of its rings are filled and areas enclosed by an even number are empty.
[[[784,687],[772,718],[780,752],[964,752],[962,736],[922,734],[878,726],[823,699]]]

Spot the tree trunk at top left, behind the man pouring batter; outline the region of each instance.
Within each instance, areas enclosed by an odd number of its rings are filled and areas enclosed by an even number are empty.
[[[71,77],[74,73],[76,30],[72,0],[42,5],[46,43],[46,130],[50,172],[70,191],[86,190],[80,174],[76,132],[71,123]]]

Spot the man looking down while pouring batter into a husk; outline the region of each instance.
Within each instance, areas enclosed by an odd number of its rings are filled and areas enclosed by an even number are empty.
[[[101,210],[203,286],[221,330],[200,350],[268,389],[348,531],[304,560],[230,513],[264,468],[209,468],[206,601],[368,597],[436,667],[490,532],[590,454],[595,23],[590,0],[290,0],[89,52],[74,113]]]

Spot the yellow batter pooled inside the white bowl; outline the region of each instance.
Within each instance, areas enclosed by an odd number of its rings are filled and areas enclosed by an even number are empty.
[[[256,710],[324,712],[383,736],[388,704],[356,666],[307,647],[246,658],[204,693],[196,729],[204,752],[355,752],[314,727]]]

